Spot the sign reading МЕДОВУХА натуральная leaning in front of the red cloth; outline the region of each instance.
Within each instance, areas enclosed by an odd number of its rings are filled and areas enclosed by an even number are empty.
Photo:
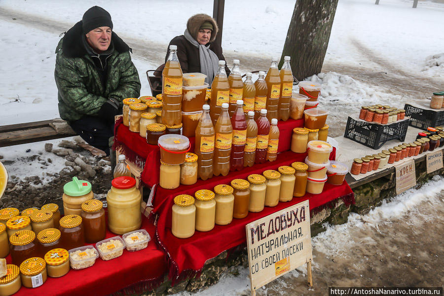
[[[308,200],[251,222],[246,230],[253,294],[313,259]]]

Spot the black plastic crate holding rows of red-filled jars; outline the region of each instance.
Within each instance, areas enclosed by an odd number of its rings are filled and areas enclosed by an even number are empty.
[[[348,117],[344,137],[373,149],[379,149],[385,142],[406,139],[409,120],[380,125]]]

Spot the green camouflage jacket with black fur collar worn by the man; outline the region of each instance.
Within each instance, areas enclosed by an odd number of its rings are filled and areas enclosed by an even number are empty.
[[[107,59],[108,78],[105,88],[94,62],[82,40],[81,21],[59,41],[56,49],[55,81],[58,88],[60,117],[67,121],[84,115],[97,115],[108,98],[116,98],[122,106],[125,98],[140,96],[140,80],[131,62],[131,48],[114,32],[114,51]]]

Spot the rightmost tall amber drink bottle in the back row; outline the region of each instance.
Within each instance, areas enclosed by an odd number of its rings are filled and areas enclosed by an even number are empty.
[[[281,92],[279,98],[279,118],[287,121],[290,117],[290,102],[292,100],[293,90],[293,72],[290,67],[290,57],[284,57],[284,65],[279,72],[281,77]]]

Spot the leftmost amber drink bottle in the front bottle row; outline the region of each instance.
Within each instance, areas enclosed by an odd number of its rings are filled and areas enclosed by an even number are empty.
[[[213,177],[215,131],[210,117],[210,106],[204,105],[202,110],[196,127],[194,153],[197,154],[197,176],[205,181]]]

